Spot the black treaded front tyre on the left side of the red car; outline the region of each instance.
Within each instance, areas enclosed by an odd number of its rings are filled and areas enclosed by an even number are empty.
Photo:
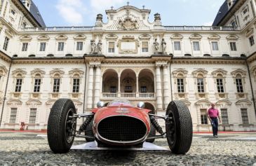
[[[50,110],[47,137],[50,149],[54,153],[67,153],[74,141],[76,118],[69,118],[76,113],[71,99],[58,99]]]

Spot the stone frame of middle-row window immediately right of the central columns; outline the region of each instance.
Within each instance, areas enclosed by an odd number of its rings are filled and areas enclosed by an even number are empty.
[[[173,71],[173,78],[174,78],[174,84],[175,84],[175,99],[188,99],[188,93],[186,92],[186,86],[187,86],[187,74],[188,71],[185,69],[177,69]],[[178,92],[177,91],[177,78],[182,78],[184,83],[184,92]]]

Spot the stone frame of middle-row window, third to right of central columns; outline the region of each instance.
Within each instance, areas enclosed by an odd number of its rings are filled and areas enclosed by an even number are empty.
[[[217,69],[212,72],[213,78],[214,78],[214,83],[215,83],[215,97],[216,99],[228,99],[228,93],[226,90],[226,78],[227,78],[227,71],[224,69]],[[222,83],[223,83],[223,88],[224,92],[218,92],[217,90],[217,79],[222,78]]]

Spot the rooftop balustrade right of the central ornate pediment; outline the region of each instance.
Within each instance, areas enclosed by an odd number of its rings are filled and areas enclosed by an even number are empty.
[[[217,26],[164,26],[166,31],[238,31],[237,27]]]

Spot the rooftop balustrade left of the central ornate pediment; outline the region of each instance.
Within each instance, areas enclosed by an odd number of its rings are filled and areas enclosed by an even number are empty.
[[[21,32],[80,32],[91,30],[93,30],[93,27],[27,27],[20,29]]]

